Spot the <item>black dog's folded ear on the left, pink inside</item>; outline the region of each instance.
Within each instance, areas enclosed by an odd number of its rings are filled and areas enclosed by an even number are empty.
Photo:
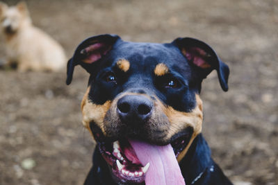
[[[117,40],[120,40],[119,36],[106,34],[89,37],[81,42],[72,58],[67,62],[67,85],[72,82],[76,65],[80,64],[88,73],[92,73],[98,61],[111,51]]]

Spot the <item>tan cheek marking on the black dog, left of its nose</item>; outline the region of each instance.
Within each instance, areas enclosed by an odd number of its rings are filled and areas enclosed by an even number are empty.
[[[105,135],[106,132],[104,130],[104,116],[111,107],[111,101],[108,100],[103,105],[95,105],[88,100],[89,91],[90,87],[88,87],[81,102],[81,111],[83,114],[82,123],[88,130],[90,130],[90,122],[94,121],[101,128],[101,131]],[[90,130],[90,132],[92,131]]]

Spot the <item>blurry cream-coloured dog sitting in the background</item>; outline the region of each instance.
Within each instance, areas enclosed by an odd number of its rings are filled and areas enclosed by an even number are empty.
[[[65,52],[49,35],[31,23],[26,3],[8,7],[0,2],[1,32],[6,42],[8,66],[19,71],[60,71],[65,69]]]

